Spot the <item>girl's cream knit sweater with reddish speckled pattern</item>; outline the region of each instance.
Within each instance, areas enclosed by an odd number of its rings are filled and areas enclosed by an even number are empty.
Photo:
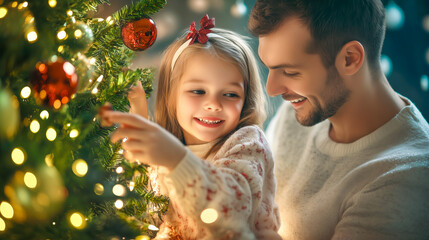
[[[152,174],[156,190],[170,197],[156,239],[280,239],[274,162],[262,130],[243,127],[202,160],[212,144],[188,146],[172,172]],[[201,220],[206,209],[218,213],[214,223]]]

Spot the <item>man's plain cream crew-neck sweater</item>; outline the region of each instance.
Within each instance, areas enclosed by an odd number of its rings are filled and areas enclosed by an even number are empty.
[[[350,144],[325,120],[301,126],[289,103],[267,130],[283,239],[429,239],[429,126],[408,99]]]

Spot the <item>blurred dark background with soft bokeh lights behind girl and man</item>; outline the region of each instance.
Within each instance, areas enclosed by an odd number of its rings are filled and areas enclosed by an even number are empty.
[[[138,52],[131,68],[158,68],[164,49],[189,27],[208,13],[216,18],[216,27],[249,36],[257,54],[258,40],[247,30],[249,13],[256,0],[169,0],[164,9],[152,16],[158,29],[156,42]],[[111,0],[101,5],[96,16],[106,18],[132,0]],[[408,97],[429,120],[429,0],[383,0],[386,7],[387,33],[383,47],[382,67],[392,87]],[[260,63],[260,62],[259,62]],[[260,63],[262,79],[267,69]],[[150,104],[153,106],[153,98]],[[268,98],[269,118],[281,98]]]

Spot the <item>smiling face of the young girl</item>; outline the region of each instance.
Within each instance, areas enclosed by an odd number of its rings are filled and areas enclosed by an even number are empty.
[[[225,136],[240,120],[244,80],[239,68],[208,53],[189,58],[176,89],[176,115],[187,145]]]

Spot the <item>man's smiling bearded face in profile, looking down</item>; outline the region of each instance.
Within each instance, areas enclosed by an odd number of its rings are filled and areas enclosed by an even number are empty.
[[[335,115],[350,95],[335,66],[327,69],[319,54],[308,52],[310,43],[308,28],[297,18],[259,38],[259,57],[269,69],[268,95],[289,101],[304,126]]]

